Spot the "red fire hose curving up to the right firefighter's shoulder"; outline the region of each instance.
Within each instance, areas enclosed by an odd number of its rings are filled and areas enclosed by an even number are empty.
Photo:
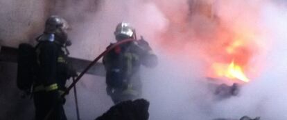
[[[76,85],[76,83],[78,83],[78,81],[80,81],[80,79],[82,78],[82,76],[90,69],[92,68],[92,66],[94,66],[94,64],[101,59],[101,57],[103,57],[105,54],[107,54],[107,52],[110,52],[111,50],[113,50],[116,46],[119,46],[123,43],[128,43],[130,41],[136,41],[137,39],[124,39],[122,41],[119,41],[117,43],[114,43],[112,46],[110,46],[109,48],[107,48],[104,52],[102,52],[100,55],[98,55],[98,57],[96,57],[96,59],[94,59],[94,61],[92,61],[91,63],[89,63],[89,65],[82,70],[82,72],[80,72],[80,74],[78,75],[78,77],[73,81],[73,83],[71,83],[71,85],[67,88],[67,90],[64,91],[64,93],[60,96],[60,98],[63,98],[65,95],[67,95],[69,93],[69,91]],[[51,108],[51,110],[49,110],[49,112],[46,114],[46,117],[44,120],[48,120],[54,110],[55,106],[53,106]]]

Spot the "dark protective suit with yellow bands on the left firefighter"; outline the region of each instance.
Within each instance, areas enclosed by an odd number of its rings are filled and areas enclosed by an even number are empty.
[[[65,83],[76,71],[68,61],[61,44],[55,41],[40,41],[37,46],[39,73],[34,86],[36,119],[42,120],[53,108],[49,119],[66,120],[60,94],[65,90]]]

